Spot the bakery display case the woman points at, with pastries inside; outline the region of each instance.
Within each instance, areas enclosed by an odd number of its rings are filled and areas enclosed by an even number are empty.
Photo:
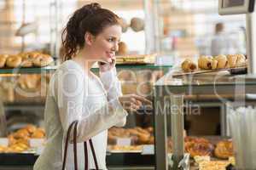
[[[255,76],[234,76],[229,71],[180,77],[172,77],[172,73],[169,73],[161,77],[154,85],[156,169],[177,169],[178,163],[186,156],[185,152],[189,153],[190,160],[205,160],[199,163],[200,169],[207,169],[207,166],[211,167],[214,163],[219,166],[217,169],[221,169],[234,162],[233,144],[227,128],[226,104],[250,102],[255,105],[255,98],[250,98],[256,93],[255,87]],[[184,116],[188,114],[186,103],[196,105],[207,98],[224,107],[221,116],[222,136],[184,137]],[[171,137],[172,158],[167,147]],[[207,161],[209,159],[211,161]]]

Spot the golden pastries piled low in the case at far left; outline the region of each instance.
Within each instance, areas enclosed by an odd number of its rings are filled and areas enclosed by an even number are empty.
[[[44,129],[35,127],[31,124],[20,128],[15,133],[8,136],[9,145],[0,146],[0,152],[19,153],[30,149],[29,139],[43,139],[45,137]]]

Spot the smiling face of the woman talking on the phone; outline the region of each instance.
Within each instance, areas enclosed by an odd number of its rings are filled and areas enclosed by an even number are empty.
[[[96,61],[111,63],[115,58],[115,52],[118,51],[122,29],[121,26],[108,26],[96,37],[85,35],[85,42],[92,51],[92,59]],[[90,40],[91,39],[91,40]]]

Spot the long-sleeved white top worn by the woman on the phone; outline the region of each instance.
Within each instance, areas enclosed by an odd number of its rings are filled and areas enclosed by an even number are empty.
[[[116,69],[89,77],[73,60],[65,61],[49,82],[44,122],[47,142],[34,170],[61,169],[63,146],[68,126],[78,124],[78,164],[84,169],[83,142],[92,139],[100,169],[106,167],[108,128],[124,126],[127,112],[119,104],[120,82]],[[70,139],[72,139],[71,137]],[[89,168],[96,168],[88,146]],[[69,144],[66,169],[74,169],[73,145]]]

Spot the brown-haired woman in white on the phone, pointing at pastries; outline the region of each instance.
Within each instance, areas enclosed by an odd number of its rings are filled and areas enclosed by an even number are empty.
[[[84,169],[83,141],[92,139],[100,169],[106,168],[108,128],[124,126],[126,111],[136,111],[150,101],[135,94],[120,93],[116,77],[115,51],[121,36],[119,17],[98,3],[79,8],[62,33],[63,62],[49,82],[44,120],[47,142],[34,165],[36,170],[61,169],[62,144],[69,125],[79,120],[79,169]],[[99,62],[100,77],[91,71]],[[71,137],[72,139],[72,137]],[[90,147],[89,168],[94,169]],[[67,169],[73,168],[72,146]]]

